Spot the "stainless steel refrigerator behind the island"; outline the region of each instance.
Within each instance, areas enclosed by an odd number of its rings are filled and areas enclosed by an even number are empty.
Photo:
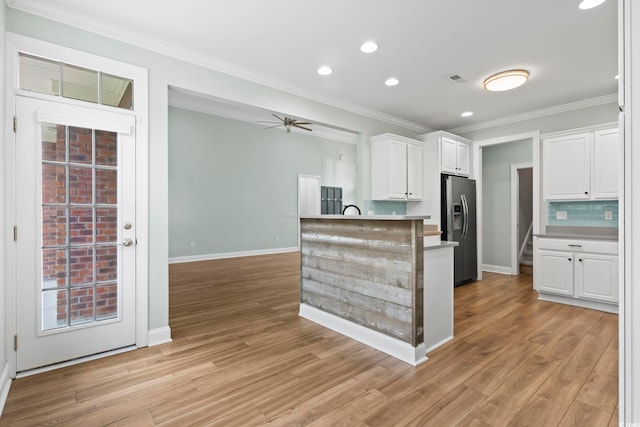
[[[442,175],[442,240],[453,240],[454,286],[477,278],[476,182],[473,179]]]

